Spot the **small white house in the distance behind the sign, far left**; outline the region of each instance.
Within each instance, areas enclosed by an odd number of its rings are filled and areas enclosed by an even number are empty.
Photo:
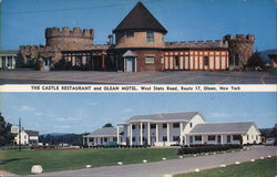
[[[21,139],[21,140],[20,140]],[[20,134],[14,137],[16,145],[38,145],[39,132],[31,129],[22,129]]]

